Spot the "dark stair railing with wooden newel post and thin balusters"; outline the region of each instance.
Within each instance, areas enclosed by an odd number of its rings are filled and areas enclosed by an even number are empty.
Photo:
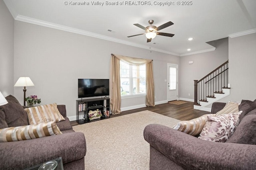
[[[200,106],[207,98],[215,98],[215,93],[222,94],[222,88],[228,88],[228,61],[200,80],[194,80],[194,105]]]

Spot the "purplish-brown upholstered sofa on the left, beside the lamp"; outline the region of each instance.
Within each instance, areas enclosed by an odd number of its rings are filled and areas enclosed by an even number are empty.
[[[0,129],[29,125],[24,108],[14,96],[0,106]],[[64,121],[56,122],[60,135],[0,143],[0,170],[19,170],[62,157],[64,170],[84,170],[86,140],[72,129],[65,105],[57,105]],[[6,127],[7,126],[7,127]]]

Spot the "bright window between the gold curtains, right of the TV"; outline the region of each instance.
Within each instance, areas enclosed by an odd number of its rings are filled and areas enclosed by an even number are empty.
[[[146,65],[132,66],[120,61],[121,96],[146,94]]]

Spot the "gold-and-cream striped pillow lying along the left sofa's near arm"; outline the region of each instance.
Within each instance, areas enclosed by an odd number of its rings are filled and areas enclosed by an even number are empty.
[[[23,141],[62,134],[55,121],[0,129],[0,142]]]

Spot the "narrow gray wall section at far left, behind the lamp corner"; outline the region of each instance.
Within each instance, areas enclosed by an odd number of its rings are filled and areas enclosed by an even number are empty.
[[[0,0],[0,92],[4,96],[14,94],[14,19]]]

